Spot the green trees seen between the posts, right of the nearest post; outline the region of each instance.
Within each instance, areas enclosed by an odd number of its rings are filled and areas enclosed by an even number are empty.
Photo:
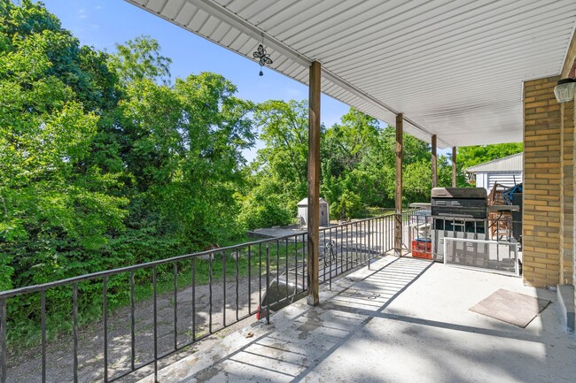
[[[367,206],[393,207],[395,130],[354,109],[341,121],[323,136],[321,194],[331,203],[332,217],[362,217]],[[430,201],[430,147],[408,134],[403,140],[403,203]],[[450,183],[448,159],[440,157],[439,185]]]

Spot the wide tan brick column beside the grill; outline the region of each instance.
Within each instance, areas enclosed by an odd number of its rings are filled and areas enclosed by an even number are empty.
[[[526,284],[556,286],[560,276],[561,115],[558,77],[524,84],[523,260]]]

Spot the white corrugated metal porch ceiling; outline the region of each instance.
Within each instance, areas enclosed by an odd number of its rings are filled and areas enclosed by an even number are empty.
[[[127,0],[439,147],[522,141],[522,82],[560,73],[574,0]],[[253,73],[250,73],[253,75]]]

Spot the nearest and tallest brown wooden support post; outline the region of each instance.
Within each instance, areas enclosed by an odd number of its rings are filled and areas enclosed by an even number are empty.
[[[308,253],[307,303],[316,306],[320,253],[320,63],[310,65],[308,93]]]

